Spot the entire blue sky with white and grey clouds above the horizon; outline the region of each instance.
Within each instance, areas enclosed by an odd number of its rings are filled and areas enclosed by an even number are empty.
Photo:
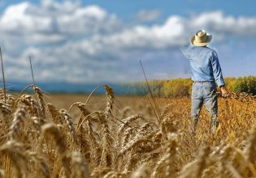
[[[180,46],[213,35],[224,77],[256,74],[254,0],[1,0],[0,44],[9,81],[102,83],[189,78]]]

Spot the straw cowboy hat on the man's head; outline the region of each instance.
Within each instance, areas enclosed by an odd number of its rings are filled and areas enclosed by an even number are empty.
[[[191,37],[191,43],[195,46],[206,46],[210,43],[212,36],[204,30],[199,30],[194,36]]]

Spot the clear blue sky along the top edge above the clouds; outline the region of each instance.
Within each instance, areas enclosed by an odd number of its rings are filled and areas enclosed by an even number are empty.
[[[19,3],[18,0],[2,0],[3,7],[10,6],[11,4]],[[30,0],[28,2],[39,3],[38,0]],[[62,1],[57,1],[62,2]],[[231,15],[255,15],[255,1],[254,0],[140,0],[140,1],[119,1],[119,0],[84,0],[80,1],[84,6],[97,4],[104,7],[107,11],[115,12],[120,18],[127,18],[132,14],[137,13],[141,9],[159,9],[162,11],[163,16],[167,17],[171,14],[188,15],[193,12],[202,11],[216,11],[222,10]],[[3,9],[3,8],[2,8]]]

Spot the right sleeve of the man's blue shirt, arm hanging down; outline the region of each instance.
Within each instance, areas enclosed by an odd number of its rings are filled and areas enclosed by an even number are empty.
[[[213,74],[215,77],[215,81],[218,84],[218,87],[225,85],[221,67],[219,65],[219,58],[218,58],[217,53],[215,53],[215,52],[212,53],[211,66],[212,66]]]

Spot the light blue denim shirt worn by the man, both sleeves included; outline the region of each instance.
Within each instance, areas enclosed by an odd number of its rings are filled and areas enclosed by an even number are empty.
[[[215,81],[219,87],[225,84],[214,49],[189,45],[180,50],[189,59],[193,81]]]

